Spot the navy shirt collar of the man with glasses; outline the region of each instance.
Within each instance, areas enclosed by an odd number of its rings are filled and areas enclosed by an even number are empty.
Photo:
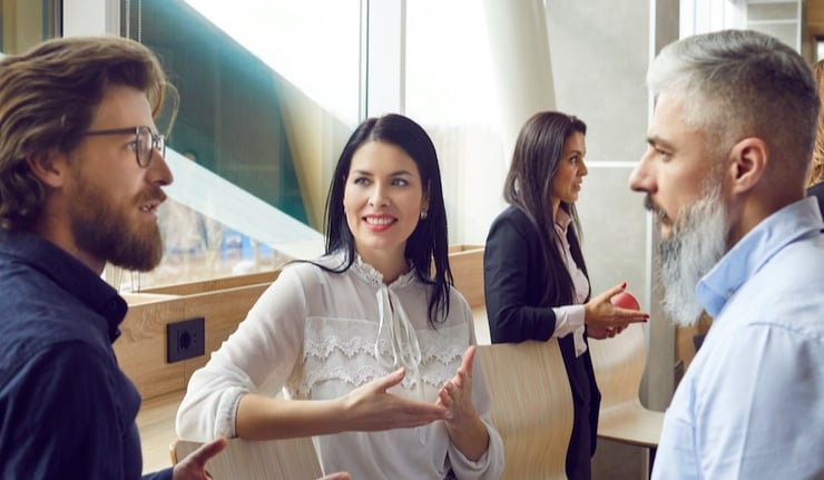
[[[39,235],[0,228],[0,254],[30,265],[106,320],[109,341],[120,336],[128,305],[117,291],[77,258]]]

